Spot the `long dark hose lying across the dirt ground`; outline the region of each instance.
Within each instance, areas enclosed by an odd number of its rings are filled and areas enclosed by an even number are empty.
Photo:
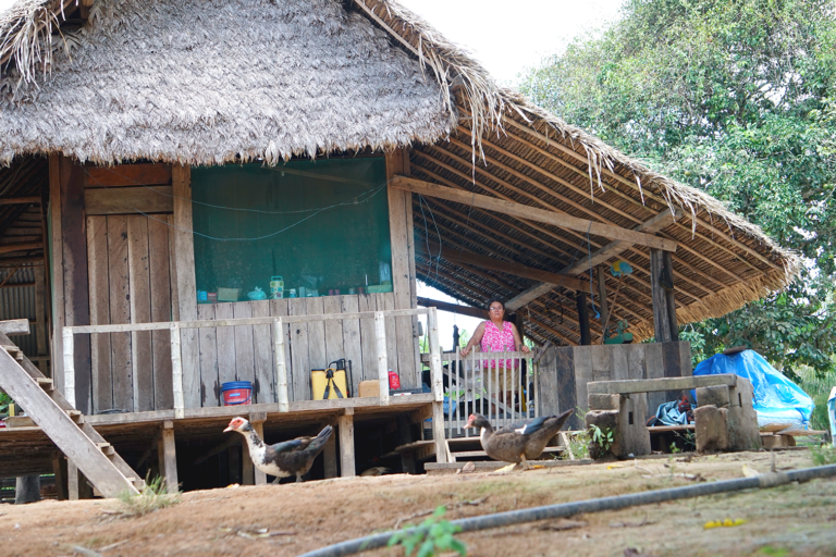
[[[807,482],[816,478],[828,478],[832,475],[836,475],[836,465],[804,468],[802,470],[791,470],[789,472],[759,474],[754,478],[700,483],[697,485],[686,485],[684,487],[669,487],[652,492],[630,493],[615,497],[602,497],[600,499],[561,503],[558,505],[546,505],[544,507],[534,507],[530,509],[509,510],[507,512],[497,512],[495,515],[454,520],[452,523],[462,527],[463,532],[476,532],[478,530],[507,527],[522,522],[571,517],[581,512],[616,510],[637,505],[687,499],[689,497],[701,497],[704,495],[714,495],[716,493],[736,492],[758,487],[775,487],[789,482]],[[419,528],[414,528],[409,529],[408,532],[413,533],[418,530]],[[379,549],[386,546],[393,533],[394,531],[391,531],[341,542],[339,544],[308,552],[299,557],[341,557],[343,555],[354,555],[360,552]]]

